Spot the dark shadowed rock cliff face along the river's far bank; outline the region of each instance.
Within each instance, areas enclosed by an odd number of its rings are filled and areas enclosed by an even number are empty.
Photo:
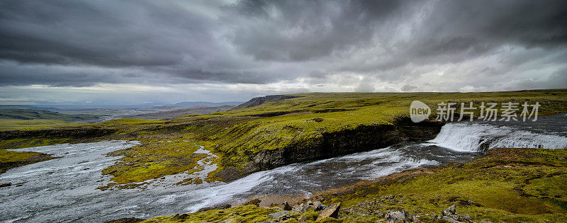
[[[434,139],[443,125],[442,122],[414,123],[403,118],[394,125],[360,126],[354,130],[325,133],[312,142],[297,142],[289,147],[252,154],[244,171],[252,173],[302,161],[370,151],[404,141]]]

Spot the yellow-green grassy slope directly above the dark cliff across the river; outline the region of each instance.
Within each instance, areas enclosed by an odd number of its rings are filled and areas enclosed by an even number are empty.
[[[309,143],[325,132],[349,130],[359,125],[391,124],[395,117],[408,115],[409,105],[420,100],[434,108],[437,103],[539,101],[540,115],[567,112],[567,91],[515,91],[495,93],[298,93],[298,98],[272,101],[225,113],[178,118],[175,121],[210,120],[193,125],[198,139],[213,142],[212,149],[228,154],[225,166],[241,167],[249,154],[290,144]],[[512,99],[513,98],[513,99]],[[280,115],[286,114],[286,115]],[[245,115],[277,115],[229,125],[223,119]],[[435,117],[434,114],[432,117]],[[322,118],[315,122],[314,118]],[[214,120],[218,119],[218,122]]]

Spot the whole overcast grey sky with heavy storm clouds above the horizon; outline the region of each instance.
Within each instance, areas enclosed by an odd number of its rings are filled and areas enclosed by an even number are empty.
[[[0,1],[0,104],[567,88],[567,1]]]

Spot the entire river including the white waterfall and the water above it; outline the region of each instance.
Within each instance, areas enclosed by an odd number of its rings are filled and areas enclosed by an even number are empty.
[[[13,168],[0,175],[2,222],[104,222],[121,217],[149,218],[195,212],[254,195],[310,195],[410,168],[469,161],[493,147],[567,148],[567,115],[537,122],[453,122],[428,142],[391,147],[291,164],[252,173],[230,183],[154,185],[145,190],[96,189],[108,183],[101,170],[119,157],[104,156],[138,142],[107,141],[16,149],[62,156]],[[205,149],[198,152],[208,153]],[[212,154],[211,154],[212,155]],[[207,165],[205,171],[215,166]]]

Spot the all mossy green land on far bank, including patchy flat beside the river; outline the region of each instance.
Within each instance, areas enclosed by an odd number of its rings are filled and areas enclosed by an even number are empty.
[[[540,115],[567,112],[567,90],[511,91],[486,93],[298,93],[297,98],[268,101],[262,105],[207,115],[186,115],[174,120],[120,119],[79,127],[117,130],[111,136],[96,139],[179,139],[197,141],[220,156],[218,171],[235,168],[242,171],[249,157],[262,149],[277,149],[291,144],[309,144],[325,132],[349,130],[359,125],[391,124],[395,117],[408,115],[414,100],[423,101],[434,110],[440,102],[520,102],[538,101]],[[478,105],[478,104],[477,104]],[[432,115],[434,117],[434,114]],[[319,118],[319,119],[316,119]],[[319,120],[319,121],[315,121]],[[46,128],[47,126],[43,127]],[[39,127],[38,127],[39,128]],[[36,129],[38,129],[36,128]],[[47,127],[48,128],[48,127]],[[38,137],[10,139],[0,142],[0,148],[74,142],[77,139]],[[145,142],[152,147],[152,141]],[[123,160],[109,171],[116,183],[142,182],[148,178],[181,173],[194,166],[187,161],[175,161],[192,152],[191,145],[172,158],[161,159],[154,154],[169,154],[167,147],[134,147],[127,156],[146,154],[145,159]],[[151,165],[147,163],[152,163]],[[118,168],[118,166],[120,166]],[[134,166],[163,166],[154,171],[140,171]],[[114,171],[120,169],[120,171]],[[113,172],[114,171],[114,172]],[[137,177],[124,173],[137,173]],[[210,174],[211,180],[216,172]]]

